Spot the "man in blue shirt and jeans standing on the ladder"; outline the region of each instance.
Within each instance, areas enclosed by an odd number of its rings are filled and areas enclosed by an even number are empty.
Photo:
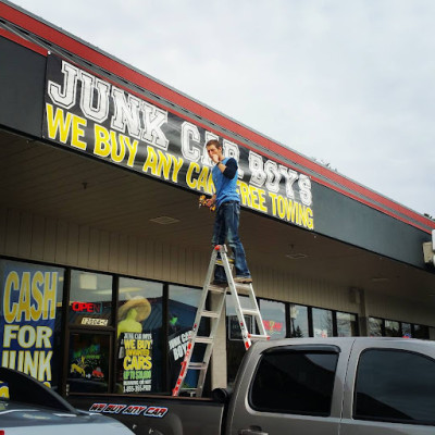
[[[252,283],[251,274],[246,262],[246,254],[240,237],[238,236],[238,224],[240,216],[240,198],[237,192],[237,162],[233,158],[225,158],[222,145],[215,140],[209,140],[206,145],[210,159],[215,163],[212,177],[216,192],[206,201],[207,207],[216,206],[216,217],[214,221],[212,244],[224,245],[228,239],[234,256],[234,268],[236,283]],[[215,285],[227,285],[223,266],[216,266],[214,271]]]

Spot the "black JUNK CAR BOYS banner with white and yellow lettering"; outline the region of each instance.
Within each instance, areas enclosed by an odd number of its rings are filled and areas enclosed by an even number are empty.
[[[311,181],[61,58],[47,61],[44,137],[113,164],[212,195],[206,144],[217,139],[239,166],[241,206],[314,228]]]

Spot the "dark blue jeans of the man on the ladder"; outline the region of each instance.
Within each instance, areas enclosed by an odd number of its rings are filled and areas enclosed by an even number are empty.
[[[246,254],[240,237],[238,236],[238,222],[240,217],[240,203],[228,201],[222,203],[216,210],[216,219],[214,221],[212,244],[224,245],[228,240],[234,254],[234,266],[236,276],[251,276],[248,264],[246,263]],[[214,270],[214,279],[217,282],[226,282],[224,268],[217,265]]]

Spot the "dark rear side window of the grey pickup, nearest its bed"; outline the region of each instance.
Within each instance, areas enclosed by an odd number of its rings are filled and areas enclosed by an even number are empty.
[[[262,356],[249,403],[258,411],[330,415],[338,353],[282,350]]]

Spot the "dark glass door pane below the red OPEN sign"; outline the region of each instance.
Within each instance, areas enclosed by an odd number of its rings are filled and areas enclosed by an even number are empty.
[[[107,393],[110,335],[96,333],[70,334],[70,393]]]

